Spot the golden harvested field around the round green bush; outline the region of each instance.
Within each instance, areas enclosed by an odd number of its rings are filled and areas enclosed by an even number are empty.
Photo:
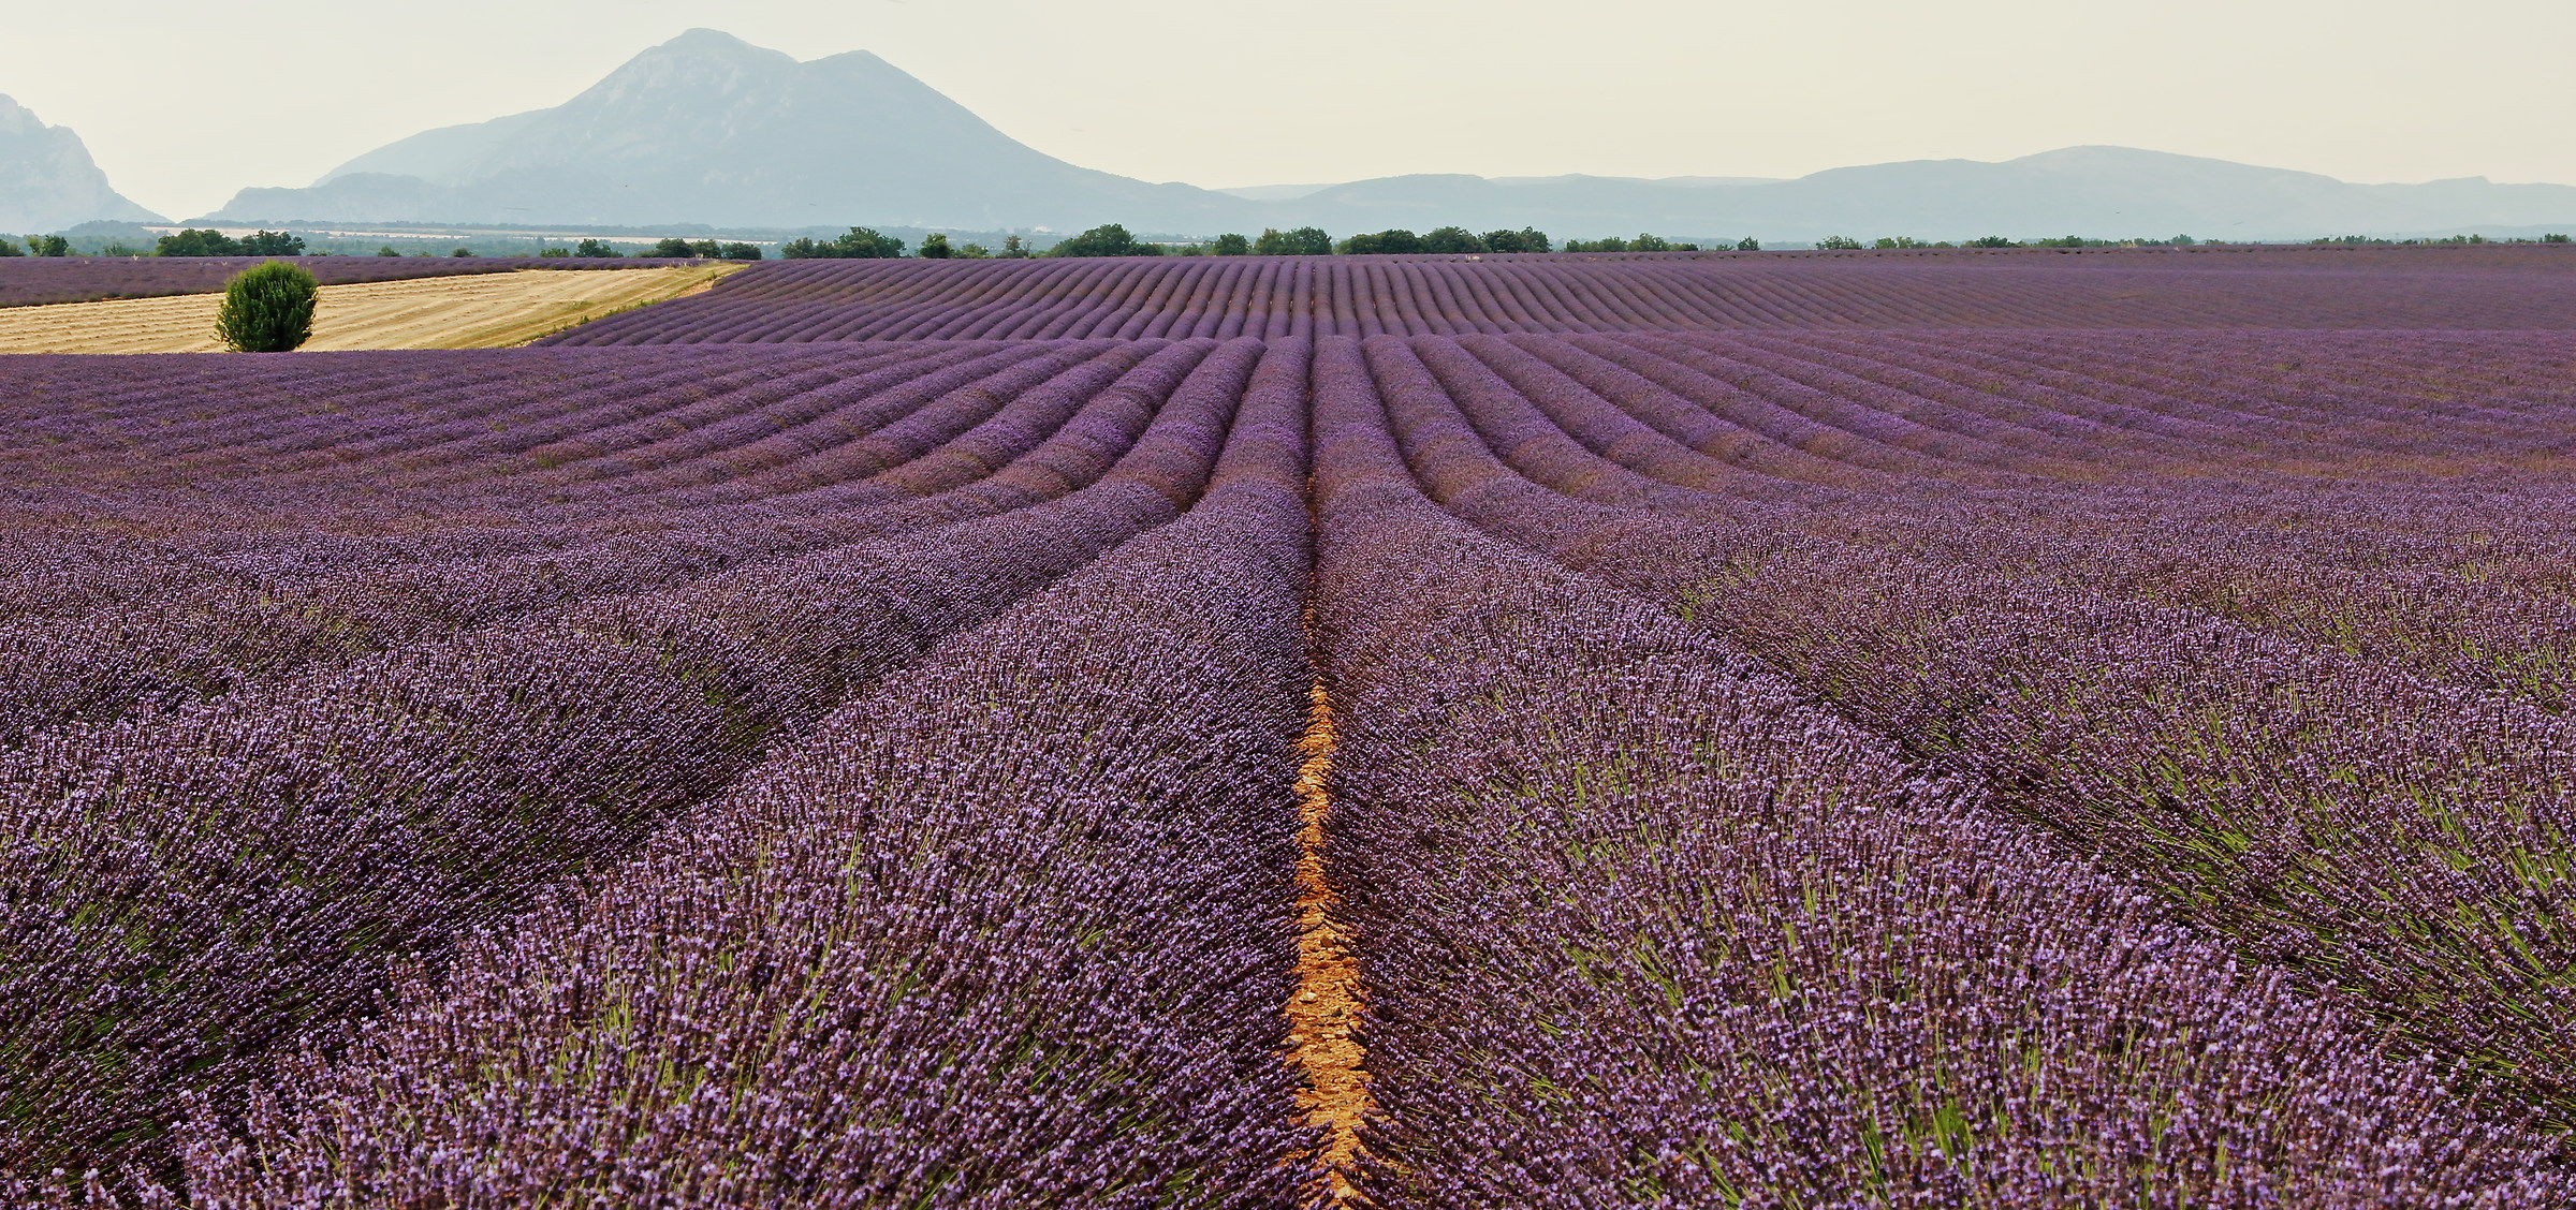
[[[502,348],[703,291],[742,265],[518,270],[322,286],[307,350]],[[0,309],[0,353],[222,353],[222,293]]]

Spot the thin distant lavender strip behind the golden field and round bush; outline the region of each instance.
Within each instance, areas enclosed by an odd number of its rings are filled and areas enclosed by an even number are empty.
[[[234,273],[270,257],[0,257],[0,306],[214,293]],[[358,281],[451,278],[518,268],[647,268],[685,260],[582,257],[291,257],[325,286]]]

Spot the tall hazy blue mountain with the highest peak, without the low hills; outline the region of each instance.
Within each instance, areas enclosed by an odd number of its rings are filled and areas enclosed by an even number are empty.
[[[211,221],[1239,227],[1242,198],[1066,165],[866,54],[693,28],[544,111],[379,147]]]

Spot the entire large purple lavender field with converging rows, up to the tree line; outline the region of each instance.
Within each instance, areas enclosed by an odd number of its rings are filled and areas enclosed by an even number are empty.
[[[0,358],[0,1195],[2571,1205],[2576,260],[2403,252]]]

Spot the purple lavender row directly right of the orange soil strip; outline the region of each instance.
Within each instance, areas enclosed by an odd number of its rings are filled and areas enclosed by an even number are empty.
[[[1319,368],[1370,1205],[2553,1205],[2563,1143],[1749,659]]]

